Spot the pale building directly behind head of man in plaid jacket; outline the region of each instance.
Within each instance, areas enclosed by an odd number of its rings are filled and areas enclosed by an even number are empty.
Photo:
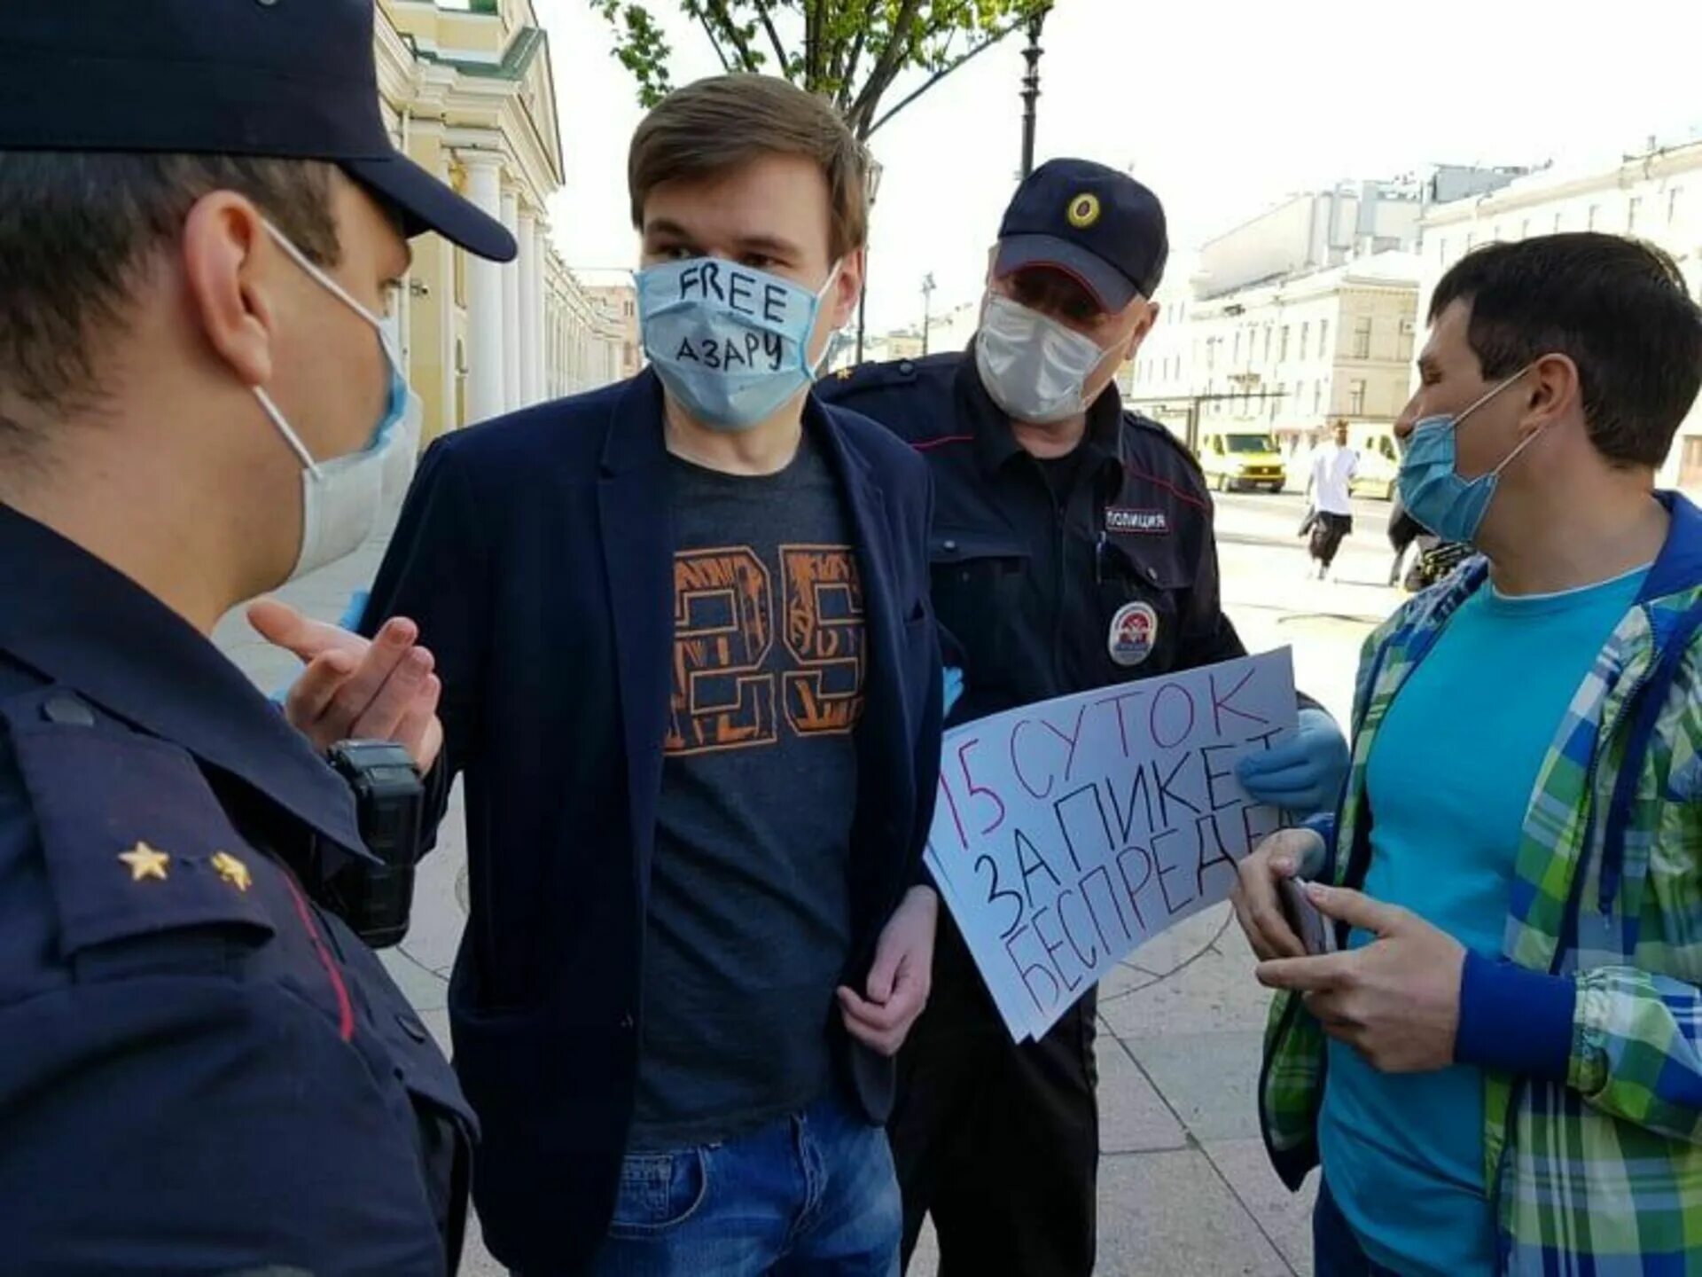
[[[1419,243],[1419,315],[1442,274],[1472,249],[1557,232],[1600,230],[1656,243],[1702,295],[1702,138],[1656,138],[1619,162],[1571,163],[1522,177],[1477,199],[1436,204]],[[1663,487],[1702,489],[1702,407],[1680,427]]]

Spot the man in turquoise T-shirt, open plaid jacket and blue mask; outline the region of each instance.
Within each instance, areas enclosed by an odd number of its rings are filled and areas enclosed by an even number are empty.
[[[1648,596],[1702,579],[1693,533],[1678,531],[1693,528],[1693,507],[1653,490],[1702,383],[1702,317],[1658,250],[1554,235],[1469,254],[1438,283],[1430,318],[1423,383],[1396,424],[1408,441],[1401,495],[1435,535],[1482,552],[1488,570],[1465,565],[1367,644],[1339,838],[1326,819],[1268,839],[1241,868],[1236,911],[1259,979],[1299,994],[1280,1003],[1266,1044],[1266,1142],[1290,1187],[1309,1158],[1322,1163],[1317,1277],[1690,1272],[1688,1260],[1671,1267],[1683,1253],[1673,1238],[1693,1238],[1702,1219],[1683,1205],[1683,1141],[1634,1129],[1634,1105],[1617,1097],[1610,1115],[1579,1105],[1605,1108],[1607,1068],[1627,1090],[1636,1073],[1651,1108],[1695,1108],[1682,1039],[1702,1025],[1702,1001],[1661,984],[1659,1003],[1591,1011],[1605,1005],[1600,977],[1579,967],[1613,959],[1595,943],[1579,960],[1578,930],[1619,928],[1627,986],[1654,989],[1670,976],[1663,953],[1687,943],[1693,890],[1663,877],[1654,890],[1675,916],[1620,923],[1603,870],[1581,916],[1561,850],[1579,821],[1583,855],[1613,843],[1620,788],[1631,804],[1683,795],[1627,775],[1600,814],[1579,814],[1554,793],[1566,768],[1591,783],[1596,737],[1585,729],[1602,715],[1624,635],[1653,625]],[[1661,635],[1688,620],[1661,621]],[[1668,684],[1683,700],[1670,674],[1685,649],[1671,650],[1665,681],[1648,676],[1651,708],[1615,715],[1605,734],[1634,717],[1634,741],[1646,739]],[[1603,753],[1619,766],[1634,747]],[[1605,838],[1591,833],[1598,816]],[[1649,872],[1668,873],[1665,862]],[[1297,873],[1355,889],[1307,889],[1348,952],[1304,953],[1276,892]],[[1545,892],[1568,919],[1552,962],[1515,943]],[[1639,926],[1665,947],[1639,948]],[[1687,962],[1673,965],[1693,971]],[[1620,1023],[1632,1016],[1648,1042]],[[1311,1054],[1305,1042],[1322,1037]],[[1574,1039],[1608,1040],[1613,1059],[1598,1066]],[[1656,1062],[1639,1071],[1627,1051]],[[1510,1093],[1518,1124],[1503,1117]],[[1659,1134],[1671,1119],[1659,1110]],[[1648,1228],[1610,1221],[1613,1200],[1649,1212]]]

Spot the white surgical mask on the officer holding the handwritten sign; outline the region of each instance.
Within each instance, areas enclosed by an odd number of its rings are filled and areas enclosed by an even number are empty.
[[[992,293],[975,337],[975,366],[992,402],[1043,426],[1088,410],[1088,378],[1105,361],[1091,337]]]

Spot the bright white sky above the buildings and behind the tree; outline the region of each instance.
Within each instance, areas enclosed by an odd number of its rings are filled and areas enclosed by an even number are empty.
[[[589,0],[534,0],[550,32],[567,187],[557,242],[580,271],[630,267],[626,143],[642,112]],[[655,0],[657,12],[674,10]],[[1426,162],[1562,163],[1702,126],[1702,3],[1615,0],[1059,0],[1045,27],[1037,160],[1127,167],[1197,245],[1283,194]],[[672,19],[674,82],[720,70]],[[1021,145],[1021,37],[873,138],[885,169],[868,324],[975,300]],[[912,82],[900,80],[887,102]]]

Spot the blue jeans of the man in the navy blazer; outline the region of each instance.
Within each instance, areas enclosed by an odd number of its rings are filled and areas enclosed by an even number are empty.
[[[887,1132],[820,1100],[725,1144],[635,1153],[594,1277],[899,1277]]]

